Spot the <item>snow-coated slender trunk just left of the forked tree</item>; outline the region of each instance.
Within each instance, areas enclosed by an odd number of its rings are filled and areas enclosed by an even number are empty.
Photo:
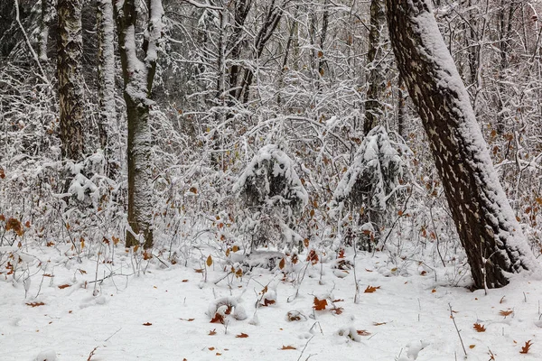
[[[119,165],[115,160],[117,111],[115,108],[115,23],[112,0],[98,0],[98,133],[106,156],[107,175],[115,178]]]

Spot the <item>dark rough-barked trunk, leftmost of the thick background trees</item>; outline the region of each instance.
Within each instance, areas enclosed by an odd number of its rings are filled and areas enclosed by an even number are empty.
[[[85,131],[84,80],[81,69],[81,0],[59,0],[58,77],[62,156],[79,161]]]

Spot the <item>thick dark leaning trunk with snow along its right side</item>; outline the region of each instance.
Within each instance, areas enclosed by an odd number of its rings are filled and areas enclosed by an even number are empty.
[[[474,286],[497,288],[537,269],[493,168],[429,0],[386,0],[397,67],[429,138]]]

